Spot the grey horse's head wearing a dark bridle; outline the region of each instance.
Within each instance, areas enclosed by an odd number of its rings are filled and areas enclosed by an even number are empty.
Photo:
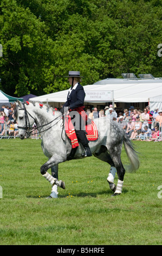
[[[18,123],[18,136],[21,139],[24,139],[25,136],[30,136],[29,130],[33,126],[35,120],[28,112],[28,107],[25,103],[22,103],[20,101],[17,101],[15,103],[16,108],[14,111],[14,115]]]

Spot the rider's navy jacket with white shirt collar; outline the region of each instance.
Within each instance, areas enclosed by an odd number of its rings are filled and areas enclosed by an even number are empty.
[[[72,90],[71,88],[69,89],[67,101],[64,103],[63,107],[70,107],[72,110],[81,107],[84,105],[85,96],[85,90],[81,84],[76,83]]]

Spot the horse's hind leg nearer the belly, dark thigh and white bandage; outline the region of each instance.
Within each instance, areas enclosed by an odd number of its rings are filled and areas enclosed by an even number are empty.
[[[108,154],[107,151],[104,153],[101,152],[100,154],[94,154],[94,156],[111,165],[111,169],[109,171],[107,181],[108,181],[108,184],[109,184],[109,187],[111,188],[111,190],[113,192],[115,192],[116,186],[114,184],[114,178],[115,178],[116,168],[115,168],[115,165],[114,165],[114,162],[113,162],[111,156]]]

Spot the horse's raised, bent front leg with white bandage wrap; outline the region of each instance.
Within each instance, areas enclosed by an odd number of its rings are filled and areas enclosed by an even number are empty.
[[[62,187],[63,189],[65,188],[65,184],[62,180],[58,180],[57,178],[55,178],[55,176],[51,176],[47,170],[49,168],[52,168],[53,166],[56,166],[59,162],[63,162],[63,161],[59,161],[57,159],[57,157],[51,157],[46,163],[44,163],[42,166],[41,166],[41,174],[44,176],[44,178],[46,178],[51,186],[54,186],[54,185],[57,185],[59,187]]]

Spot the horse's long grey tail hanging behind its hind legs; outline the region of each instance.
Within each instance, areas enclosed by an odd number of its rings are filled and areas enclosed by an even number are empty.
[[[127,173],[136,172],[140,164],[139,158],[138,158],[138,152],[135,151],[132,141],[130,141],[130,139],[128,138],[125,132],[124,132],[124,147],[130,162],[129,165],[124,165],[124,168]]]

